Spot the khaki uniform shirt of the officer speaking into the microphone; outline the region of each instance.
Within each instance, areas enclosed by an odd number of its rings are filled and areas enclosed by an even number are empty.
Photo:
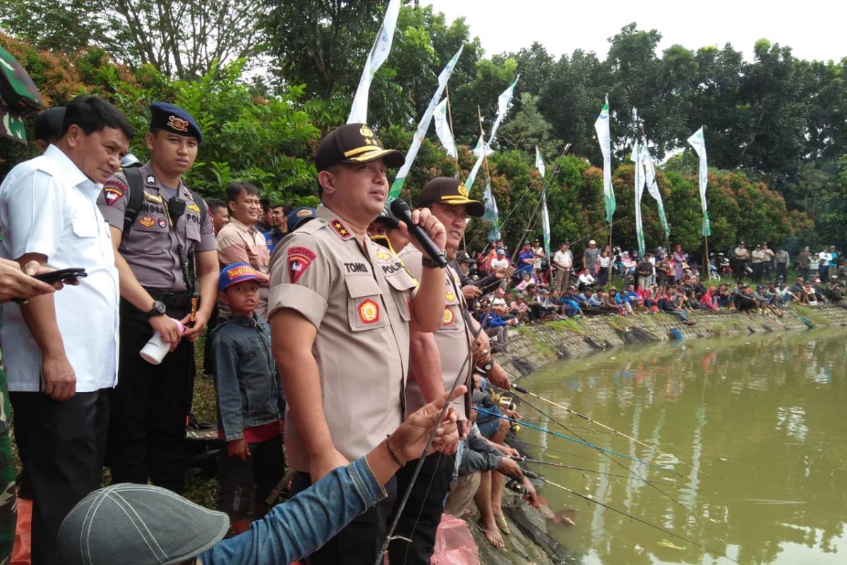
[[[359,246],[329,208],[319,206],[317,216],[274,248],[268,313],[291,308],[317,328],[312,354],[324,415],[335,448],[352,461],[402,422],[415,281],[385,247],[367,237]],[[307,472],[290,413],[285,446],[291,468]]]

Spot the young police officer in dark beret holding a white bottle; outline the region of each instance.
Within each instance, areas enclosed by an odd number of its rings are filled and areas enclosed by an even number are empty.
[[[218,257],[211,213],[182,180],[197,158],[200,128],[171,104],[155,102],[150,114],[145,138],[150,161],[138,169],[142,198],[133,200],[136,186],[125,170],[105,183],[97,200],[112,229],[121,296],[119,378],[107,463],[114,483],[150,479],[180,492],[194,378],[192,342],[215,303]],[[134,218],[127,209],[132,202],[140,202]],[[127,217],[131,224],[125,225]],[[189,272],[192,254],[198,284]],[[171,319],[187,327],[185,335]],[[171,347],[158,366],[139,357],[154,332]]]

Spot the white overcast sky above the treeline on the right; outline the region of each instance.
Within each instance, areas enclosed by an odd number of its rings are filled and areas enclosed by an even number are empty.
[[[676,43],[696,50],[729,42],[750,60],[753,44],[765,37],[791,47],[797,58],[847,57],[847,0],[421,0],[426,4],[444,12],[448,21],[464,16],[471,36],[479,36],[488,56],[518,51],[537,41],[556,58],[580,48],[603,59],[608,38],[637,22],[639,30],[662,34],[660,50]]]

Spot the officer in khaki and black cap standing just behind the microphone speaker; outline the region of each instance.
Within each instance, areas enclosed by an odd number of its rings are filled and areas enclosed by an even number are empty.
[[[418,209],[431,210],[444,224],[447,231],[446,256],[450,261],[457,256],[468,216],[479,218],[485,211],[481,202],[468,198],[468,189],[459,180],[447,177],[438,177],[424,185],[415,204]],[[417,277],[422,273],[421,252],[406,246],[400,252],[400,258],[412,275]],[[473,367],[491,360],[488,335],[477,331],[479,324],[468,313],[459,274],[450,267],[445,269],[442,291],[445,293],[445,308],[440,328],[431,334],[412,331],[406,385],[407,413],[418,410],[429,402],[428,399],[450,391],[457,378],[459,384],[467,385],[470,391]],[[474,336],[478,337],[477,341],[474,341]],[[505,382],[498,380],[495,384],[505,388],[509,386],[508,379]],[[453,401],[462,420],[468,420],[469,395],[470,392]],[[418,481],[412,485],[407,505],[397,523],[395,535],[400,537],[391,541],[390,562],[429,565],[444,500],[450,491],[455,445],[454,442],[452,450],[435,453],[424,461]],[[417,462],[412,461],[397,472],[398,501],[411,484],[416,466]]]

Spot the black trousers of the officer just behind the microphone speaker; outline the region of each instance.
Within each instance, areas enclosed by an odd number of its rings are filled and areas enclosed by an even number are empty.
[[[397,471],[397,507],[412,480],[419,459],[414,459]],[[433,453],[424,459],[418,480],[401,512],[394,535],[412,540],[393,540],[389,546],[391,565],[429,565],[435,547],[435,533],[444,512],[444,501],[450,492],[456,456]]]

